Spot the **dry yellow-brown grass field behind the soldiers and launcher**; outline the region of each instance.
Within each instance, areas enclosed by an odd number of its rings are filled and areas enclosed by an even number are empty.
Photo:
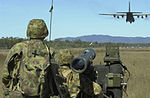
[[[72,49],[75,55],[81,53],[83,49]],[[104,48],[96,48],[96,58],[94,64],[104,64]],[[150,49],[121,49],[122,62],[131,72],[131,78],[128,83],[128,97],[123,98],[150,98]],[[7,50],[0,51],[0,68],[3,68]],[[0,71],[1,72],[1,71]],[[1,73],[2,74],[2,73]],[[0,79],[1,79],[0,74]],[[1,88],[0,80],[0,88]],[[0,89],[0,98],[2,98],[2,89]]]

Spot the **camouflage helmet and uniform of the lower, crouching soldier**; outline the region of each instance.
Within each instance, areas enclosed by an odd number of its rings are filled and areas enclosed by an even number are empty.
[[[80,87],[81,87],[79,74],[73,72],[69,67],[73,59],[73,54],[67,49],[61,50],[59,51],[58,55],[56,55],[56,58],[59,59],[60,61],[59,65],[61,66],[59,68],[59,73],[66,78],[66,85],[68,86],[71,98],[78,98],[77,96],[80,92]],[[102,89],[100,85],[94,81],[88,81],[88,82],[92,82],[92,87],[93,87],[92,89],[94,91],[92,92],[90,89],[88,89],[88,87],[85,87],[87,89],[85,89],[84,91],[87,92],[87,94],[93,93],[93,96],[88,98],[102,98],[102,92],[101,92]]]

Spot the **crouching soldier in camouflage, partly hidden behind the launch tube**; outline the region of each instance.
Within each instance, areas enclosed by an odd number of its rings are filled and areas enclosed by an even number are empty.
[[[95,77],[92,68],[85,72],[86,75],[79,75],[79,73],[72,71],[70,68],[72,59],[70,58],[73,58],[73,54],[67,49],[59,51],[56,58],[60,61],[59,72],[67,80],[66,85],[71,98],[103,98],[100,85],[86,76]]]

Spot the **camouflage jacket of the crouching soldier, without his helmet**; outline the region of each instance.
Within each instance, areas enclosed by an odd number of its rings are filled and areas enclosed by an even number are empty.
[[[79,74],[73,72],[68,66],[61,66],[59,68],[59,72],[62,76],[66,77],[66,85],[68,86],[71,98],[77,98],[80,89],[80,78]],[[85,81],[87,82],[87,81]],[[91,81],[93,84],[94,95],[97,97],[89,97],[89,98],[102,98],[101,96],[102,89],[100,85],[96,82]],[[85,87],[86,88],[86,87]],[[92,92],[90,89],[85,89],[84,92]]]

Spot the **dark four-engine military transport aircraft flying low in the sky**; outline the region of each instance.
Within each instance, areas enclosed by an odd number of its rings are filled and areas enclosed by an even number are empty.
[[[147,18],[148,16],[150,16],[150,14],[142,14],[142,12],[131,12],[130,10],[130,2],[129,2],[129,11],[128,12],[117,12],[116,14],[99,14],[99,15],[110,15],[113,16],[114,18],[120,18],[120,17],[124,17],[126,16],[126,22],[134,22],[134,16],[136,16],[137,18],[141,17],[141,18]]]

